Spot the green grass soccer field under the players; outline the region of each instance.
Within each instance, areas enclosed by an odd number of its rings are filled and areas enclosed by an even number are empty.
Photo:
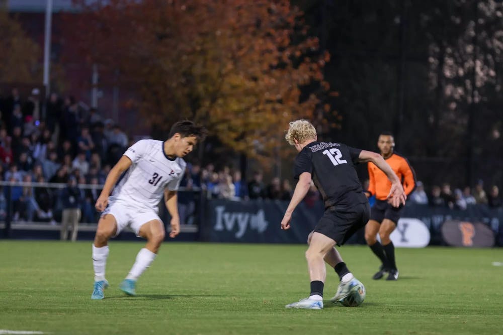
[[[350,308],[286,309],[309,293],[302,245],[166,243],[138,281],[118,290],[140,243],[111,242],[110,287],[90,299],[91,242],[0,242],[2,329],[53,334],[501,334],[503,249],[397,249],[400,278],[373,281],[377,259],[340,249],[366,286]],[[327,269],[325,299],[338,278]]]

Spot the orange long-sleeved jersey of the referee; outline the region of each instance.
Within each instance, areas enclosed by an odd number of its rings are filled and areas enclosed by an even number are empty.
[[[412,193],[415,188],[415,173],[408,161],[397,154],[392,154],[386,159],[386,163],[391,166],[398,178],[402,181],[403,189],[407,196]],[[376,196],[376,199],[386,200],[389,190],[391,189],[391,181],[384,172],[382,172],[374,163],[368,163],[369,169],[369,189],[371,195]]]

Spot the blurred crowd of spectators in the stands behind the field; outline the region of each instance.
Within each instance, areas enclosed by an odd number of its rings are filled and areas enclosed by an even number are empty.
[[[0,96],[0,113],[0,179],[4,181],[68,184],[75,180],[80,186],[102,185],[111,167],[133,144],[112,120],[103,120],[94,108],[82,108],[71,96],[63,98],[52,93],[42,102],[38,89],[23,98],[14,88],[10,95]],[[179,193],[183,224],[191,223],[195,212],[195,193],[191,190],[202,189],[209,198],[229,200],[289,200],[293,193],[290,179],[274,177],[266,183],[263,173],[255,171],[245,180],[239,170],[223,167],[216,171],[214,164],[188,164],[181,186],[188,190]],[[96,222],[94,204],[101,191],[99,186],[79,190],[80,220]],[[0,191],[0,220],[5,219],[8,196],[15,221],[55,223],[68,202],[68,190],[64,188],[13,186],[10,194],[7,191],[7,187]],[[319,198],[316,187],[311,185],[304,201],[312,206]],[[481,182],[473,189],[466,186],[454,191],[447,183],[434,185],[429,194],[423,183],[417,182],[409,201],[459,209],[474,203],[501,206],[498,187],[491,186],[486,194]]]

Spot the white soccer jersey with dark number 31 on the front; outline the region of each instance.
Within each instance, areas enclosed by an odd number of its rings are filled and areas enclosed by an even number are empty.
[[[178,189],[187,163],[180,157],[168,158],[163,146],[162,141],[140,140],[126,150],[124,155],[133,164],[117,182],[111,201],[157,208],[166,187],[171,191]]]

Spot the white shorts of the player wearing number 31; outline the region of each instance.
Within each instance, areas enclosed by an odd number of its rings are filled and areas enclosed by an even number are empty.
[[[148,221],[159,220],[162,223],[162,220],[155,210],[125,204],[120,201],[109,202],[107,208],[105,208],[101,214],[101,217],[105,214],[112,214],[117,222],[117,233],[114,237],[119,235],[126,227],[129,227],[134,231],[137,237],[140,237],[138,235],[140,228]]]

